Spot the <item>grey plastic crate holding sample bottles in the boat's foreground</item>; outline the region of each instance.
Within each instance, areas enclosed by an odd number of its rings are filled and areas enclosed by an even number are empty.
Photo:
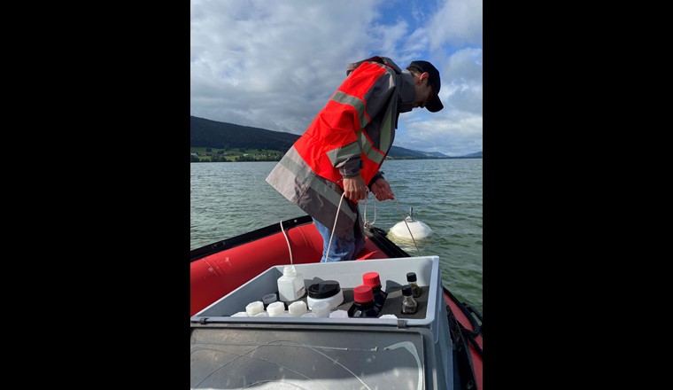
[[[424,290],[415,316],[231,317],[277,292],[283,267],[267,269],[191,317],[192,388],[453,389],[453,343],[437,256],[295,265],[306,288],[336,280],[352,289],[365,273],[378,272],[388,300],[396,299],[406,273],[415,272]]]

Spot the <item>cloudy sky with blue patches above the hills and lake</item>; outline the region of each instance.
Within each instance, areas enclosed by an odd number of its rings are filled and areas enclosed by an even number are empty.
[[[399,116],[395,145],[482,151],[482,0],[191,0],[190,114],[302,134],[375,55],[432,62],[444,110]]]

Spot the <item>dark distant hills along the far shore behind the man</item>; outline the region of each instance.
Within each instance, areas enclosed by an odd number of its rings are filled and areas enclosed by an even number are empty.
[[[252,128],[234,123],[211,121],[190,115],[190,146],[217,149],[267,149],[287,152],[299,138],[282,131]],[[481,158],[482,152],[459,158]],[[388,152],[391,159],[451,159],[440,152],[420,152],[393,145]]]

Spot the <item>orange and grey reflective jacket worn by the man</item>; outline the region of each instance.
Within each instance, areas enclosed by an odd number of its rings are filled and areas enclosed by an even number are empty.
[[[389,152],[398,122],[401,69],[389,58],[351,64],[348,77],[306,132],[267,176],[271,184],[336,234],[352,230],[357,206],[341,207],[344,176],[360,173],[367,185]]]

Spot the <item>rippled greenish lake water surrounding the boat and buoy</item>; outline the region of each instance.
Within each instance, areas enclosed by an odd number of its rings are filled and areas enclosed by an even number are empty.
[[[437,255],[442,283],[482,312],[482,159],[386,160],[385,178],[394,200],[373,195],[360,212],[388,231],[414,208],[429,226],[428,238],[392,238],[412,256]],[[275,161],[191,163],[190,248],[305,215],[266,181]],[[389,236],[390,238],[390,236]],[[418,248],[418,249],[417,249]],[[420,252],[420,253],[419,253]]]

